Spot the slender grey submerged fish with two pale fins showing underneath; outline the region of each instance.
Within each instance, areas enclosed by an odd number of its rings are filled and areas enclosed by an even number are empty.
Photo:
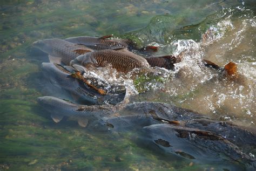
[[[123,102],[117,105],[77,105],[50,96],[39,97],[38,103],[44,107],[45,110],[51,112],[53,121],[59,122],[63,117],[77,118],[78,124],[82,127],[86,127],[87,122],[90,120],[110,117],[111,114],[119,111],[124,106]]]

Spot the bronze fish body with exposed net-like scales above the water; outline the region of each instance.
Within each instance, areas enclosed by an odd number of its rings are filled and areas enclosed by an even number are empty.
[[[86,66],[93,64],[103,67],[111,64],[119,72],[127,73],[135,68],[150,67],[147,60],[125,49],[123,50],[101,50],[83,54],[71,61],[71,65],[80,64]]]

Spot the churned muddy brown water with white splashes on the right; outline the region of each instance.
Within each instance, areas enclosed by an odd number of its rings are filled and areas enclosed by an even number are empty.
[[[251,10],[244,7],[223,9],[217,16],[220,16],[218,22],[209,25],[199,42],[177,39],[170,43],[167,41],[164,45],[163,42],[151,43],[161,45],[158,54],[166,52],[166,49],[172,49],[172,53],[176,55],[183,52],[183,61],[176,64],[176,71],[160,74],[171,77],[166,77],[167,80],[161,86],[151,86],[154,95],[156,94],[153,99],[149,97],[152,91],[141,96],[144,97],[143,100],[174,102],[180,107],[208,114],[216,119],[255,127],[256,42],[252,37],[256,33],[255,17]],[[161,22],[161,26],[163,25]],[[144,31],[150,27],[153,27],[152,24]],[[158,40],[163,40],[161,36],[166,37],[162,34]],[[148,37],[147,39],[150,40]],[[238,79],[226,78],[220,71],[204,67],[201,59],[213,61],[221,67],[234,61],[238,65]],[[146,90],[150,90],[147,85],[144,86]]]

